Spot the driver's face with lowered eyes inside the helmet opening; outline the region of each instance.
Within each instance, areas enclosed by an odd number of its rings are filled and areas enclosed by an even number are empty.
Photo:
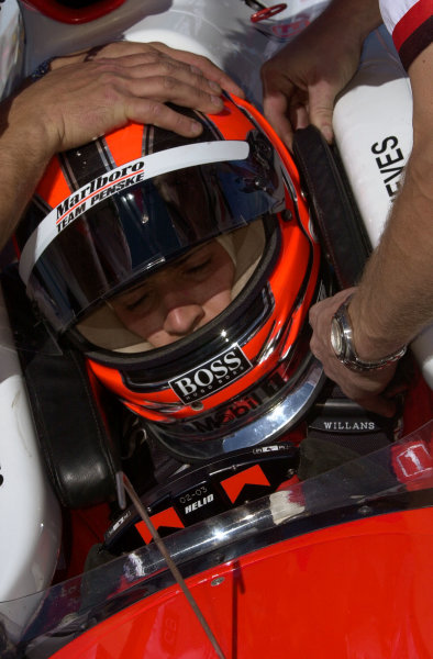
[[[231,302],[234,265],[213,241],[111,300],[122,323],[160,348],[187,336]]]

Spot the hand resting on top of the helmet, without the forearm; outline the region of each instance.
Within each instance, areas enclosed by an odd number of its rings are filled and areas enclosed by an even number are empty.
[[[182,54],[182,62],[175,58],[181,52],[159,44],[122,44],[101,48],[87,62],[82,56],[74,64],[63,58],[64,66],[55,65],[10,101],[9,125],[22,126],[24,134],[31,132],[31,142],[52,154],[79,146],[129,121],[152,123],[187,137],[199,135],[199,122],[166,102],[216,113],[223,105],[216,80],[226,85],[230,79],[203,57]],[[124,54],[118,56],[120,52]],[[231,88],[240,92],[234,82]]]

